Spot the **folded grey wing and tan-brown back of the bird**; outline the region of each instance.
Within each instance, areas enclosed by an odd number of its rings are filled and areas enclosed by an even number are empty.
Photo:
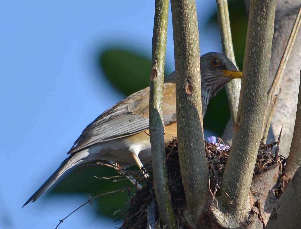
[[[164,125],[176,121],[175,83],[164,84]],[[96,143],[126,137],[148,129],[149,87],[138,91],[106,110],[89,124],[68,154]]]

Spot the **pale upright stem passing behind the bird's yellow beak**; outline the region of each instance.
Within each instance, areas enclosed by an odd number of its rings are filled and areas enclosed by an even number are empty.
[[[217,18],[219,21],[219,31],[221,34],[223,54],[227,56],[234,63],[234,65],[236,65],[233,43],[232,43],[231,28],[230,28],[228,1],[216,0],[216,6],[217,6]],[[225,86],[228,95],[230,112],[231,112],[233,123],[235,123],[236,116],[237,116],[240,87],[241,87],[240,79],[231,80]]]

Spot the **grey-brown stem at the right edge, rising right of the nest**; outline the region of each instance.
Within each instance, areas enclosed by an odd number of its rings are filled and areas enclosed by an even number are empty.
[[[301,70],[300,70],[301,77]],[[290,154],[287,158],[287,164],[284,168],[284,173],[289,178],[292,178],[301,165],[301,78],[299,84],[299,96],[296,112],[296,121],[293,134],[292,144],[290,146]]]

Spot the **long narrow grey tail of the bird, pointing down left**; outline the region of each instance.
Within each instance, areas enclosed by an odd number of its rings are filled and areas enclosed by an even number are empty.
[[[74,165],[79,164],[89,155],[88,149],[84,149],[80,152],[75,152],[66,158],[60,167],[45,181],[45,183],[26,201],[23,207],[30,203],[35,202],[57,179],[68,169],[72,168]],[[22,207],[22,208],[23,208]]]

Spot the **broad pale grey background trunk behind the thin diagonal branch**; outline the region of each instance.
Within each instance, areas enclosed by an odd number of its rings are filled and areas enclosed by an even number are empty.
[[[300,1],[278,1],[276,6],[274,37],[272,45],[272,58],[270,63],[269,84],[272,83],[277,71],[284,47],[290,35],[290,30],[295,21]],[[281,128],[281,154],[285,157],[290,152],[293,130],[296,118],[296,107],[299,87],[299,71],[301,66],[301,36],[296,38],[281,81],[281,93],[272,118],[268,133],[268,140],[277,139]]]

